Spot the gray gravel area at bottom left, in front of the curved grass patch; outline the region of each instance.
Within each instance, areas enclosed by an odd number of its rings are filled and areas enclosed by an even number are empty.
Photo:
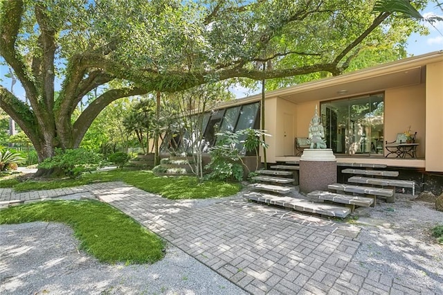
[[[0,294],[246,294],[176,247],[154,265],[107,265],[69,226],[0,226]]]

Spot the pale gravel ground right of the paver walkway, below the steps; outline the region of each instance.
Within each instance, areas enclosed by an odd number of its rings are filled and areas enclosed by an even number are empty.
[[[443,224],[443,213],[434,204],[401,195],[395,204],[381,201],[357,215],[362,229],[355,240],[361,247],[353,263],[443,294],[443,246],[431,235],[435,225]]]

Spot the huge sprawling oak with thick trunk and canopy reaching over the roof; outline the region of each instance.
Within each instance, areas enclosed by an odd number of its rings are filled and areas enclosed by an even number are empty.
[[[338,75],[362,46],[388,39],[383,28],[403,21],[397,18],[405,15],[403,7],[381,6],[372,12],[374,0],[363,2],[1,1],[0,54],[30,105],[1,86],[0,107],[28,135],[43,161],[56,147],[78,147],[100,111],[119,98],[236,77]],[[379,2],[415,11],[408,1]],[[262,60],[264,48],[275,54]],[[282,66],[269,71],[253,67],[267,60]],[[62,78],[58,96],[56,77]],[[87,93],[114,81],[120,86],[101,93],[72,120]]]

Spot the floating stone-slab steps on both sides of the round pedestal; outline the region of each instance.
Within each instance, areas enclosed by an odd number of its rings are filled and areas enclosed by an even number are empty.
[[[259,175],[253,177],[253,180],[259,181],[259,183],[250,184],[249,186],[255,191],[245,196],[255,202],[282,206],[302,213],[344,218],[352,213],[357,206],[375,206],[377,197],[386,198],[386,202],[395,202],[395,188],[397,187],[410,188],[415,195],[415,182],[395,179],[394,177],[399,175],[398,171],[374,170],[386,168],[386,165],[341,163],[338,166],[364,168],[342,170],[345,175],[364,175],[364,177],[349,177],[348,184],[330,184],[329,191],[316,190],[308,193],[306,197],[299,194],[295,196],[293,192],[296,191],[296,188],[293,186],[293,181],[298,184],[300,167],[298,165],[275,165],[271,166],[271,170],[256,171]],[[361,186],[361,184],[365,186]],[[262,193],[262,191],[266,191],[266,193]]]

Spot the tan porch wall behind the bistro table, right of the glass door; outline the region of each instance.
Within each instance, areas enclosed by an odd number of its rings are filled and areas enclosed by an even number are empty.
[[[417,157],[426,149],[426,85],[424,83],[385,91],[384,141],[395,141],[397,133],[417,132]],[[386,149],[384,150],[386,155]]]

